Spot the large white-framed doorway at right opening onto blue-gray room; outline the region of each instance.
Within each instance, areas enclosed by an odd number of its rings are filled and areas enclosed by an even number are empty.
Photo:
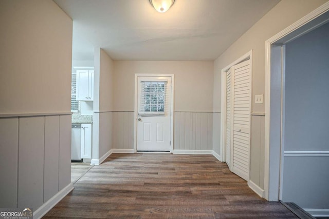
[[[318,31],[321,27],[325,28],[328,26],[328,10],[329,3],[325,3],[295,24],[266,41],[265,198],[269,201],[283,200],[291,202],[291,198],[298,195],[296,189],[302,187],[305,182],[309,182],[307,181],[307,177],[312,178],[312,183],[307,183],[307,189],[301,189],[302,192],[299,192],[301,195],[304,194],[305,198],[297,198],[298,200],[295,202],[297,204],[300,203],[299,205],[310,214],[313,214],[313,216],[329,215],[328,203],[321,202],[321,204],[317,206],[314,205],[317,201],[313,201],[312,204],[307,204],[306,202],[306,199],[312,200],[313,195],[317,192],[319,192],[319,195],[317,195],[318,200],[321,200],[321,195],[328,194],[328,190],[321,189],[321,183],[317,185],[314,179],[323,176],[323,173],[320,173],[321,168],[316,168],[315,166],[323,162],[329,163],[329,150],[328,147],[321,148],[319,146],[321,142],[320,138],[314,137],[314,134],[317,136],[321,135],[321,132],[323,132],[321,129],[309,132],[311,126],[314,126],[315,129],[320,128],[320,123],[327,119],[327,116],[322,118],[317,117],[318,114],[315,112],[319,110],[320,105],[328,102],[327,98],[324,99],[325,96],[327,97],[327,94],[322,95],[318,90],[321,89],[320,84],[323,83],[325,77],[323,77],[323,74],[322,76],[318,74],[320,71],[316,69],[318,69],[319,65],[313,67],[312,65],[315,65],[319,59],[326,58],[327,60],[329,55],[326,51],[326,54],[317,56],[316,62],[312,62],[309,64],[310,66],[308,66],[312,68],[312,70],[309,70],[307,73],[298,71],[298,75],[293,76],[294,71],[296,71],[299,66],[305,65],[305,61],[303,62],[302,58],[296,61],[291,57],[297,57],[297,55],[291,56],[291,54],[295,52],[298,56],[309,56],[307,59],[314,58],[312,53],[316,50],[310,49],[310,45],[315,46],[320,40],[318,41],[315,39],[315,41],[309,41],[308,39],[307,42],[303,43],[302,47],[296,47],[295,45],[295,48],[298,49],[303,49],[303,47],[308,48],[307,51],[303,50],[299,53],[296,53],[296,49],[294,49],[293,46],[295,43],[298,43],[302,37],[310,36],[309,34],[313,34],[314,31]],[[325,36],[323,35],[323,37]],[[326,39],[327,37],[321,40],[326,41]],[[325,45],[323,45],[323,47],[325,47]],[[287,51],[287,49],[289,51]],[[316,53],[317,54],[314,56],[319,54],[319,52]],[[300,65],[298,63],[300,63]],[[294,65],[295,67],[292,67]],[[291,76],[293,76],[293,78],[290,78]],[[304,78],[303,83],[306,84],[298,83],[299,79],[302,78]],[[296,94],[296,92],[298,95],[293,95],[294,93]],[[317,94],[314,95],[314,93]],[[318,97],[321,95],[322,97],[320,97],[318,101],[313,102],[314,96]],[[301,99],[303,101],[300,102]],[[300,107],[296,108],[296,106]],[[311,110],[309,107],[313,109]],[[322,110],[326,109],[322,108]],[[315,114],[312,116],[312,113]],[[298,120],[296,120],[297,116],[299,116]],[[316,123],[316,120],[320,121],[320,123]],[[312,122],[308,122],[307,125],[300,124],[306,121]],[[295,127],[292,129],[291,125]],[[301,134],[304,136],[298,137],[301,136]],[[292,135],[295,136],[295,140]],[[312,138],[312,144],[306,144],[307,141],[296,142],[300,141],[303,137],[308,137],[310,138],[309,140]],[[294,141],[291,142],[291,140]],[[300,165],[296,167],[298,163],[300,163]],[[307,168],[304,168],[307,163],[309,165],[306,165]],[[291,168],[294,166],[296,170],[302,169],[303,172],[299,173],[299,171],[292,170]],[[315,170],[310,170],[314,167]],[[308,171],[310,172],[307,173]],[[319,177],[314,174],[319,174]],[[291,188],[291,186],[289,187],[287,179],[292,175],[295,178],[302,177],[304,180],[299,180],[299,183],[294,186],[294,189],[290,189],[290,191],[288,188]],[[321,180],[319,180],[319,182],[321,182]],[[307,191],[313,192],[306,194],[305,192]],[[291,196],[291,194],[293,195]],[[327,200],[327,195],[322,198]]]

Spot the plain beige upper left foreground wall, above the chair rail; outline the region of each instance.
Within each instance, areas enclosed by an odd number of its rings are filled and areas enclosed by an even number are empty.
[[[0,113],[70,112],[72,21],[52,1],[0,1]]]

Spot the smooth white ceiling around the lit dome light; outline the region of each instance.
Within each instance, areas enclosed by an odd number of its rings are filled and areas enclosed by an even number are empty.
[[[280,0],[176,0],[157,12],[149,0],[54,0],[73,20],[72,58],[212,61]]]

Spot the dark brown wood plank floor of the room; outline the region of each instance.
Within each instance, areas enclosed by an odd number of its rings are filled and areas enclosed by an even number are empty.
[[[297,218],[212,155],[112,154],[44,218]]]

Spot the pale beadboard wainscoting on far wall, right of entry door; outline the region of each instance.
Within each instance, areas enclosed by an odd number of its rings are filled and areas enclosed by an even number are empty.
[[[174,151],[212,150],[213,112],[174,113]]]

